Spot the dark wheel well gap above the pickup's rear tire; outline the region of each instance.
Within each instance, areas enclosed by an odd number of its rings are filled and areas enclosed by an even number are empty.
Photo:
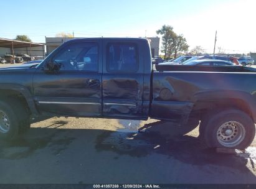
[[[221,99],[217,101],[197,101],[191,111],[191,117],[202,120],[209,111],[219,111],[225,109],[239,109],[252,118],[252,111],[248,104],[242,99]]]

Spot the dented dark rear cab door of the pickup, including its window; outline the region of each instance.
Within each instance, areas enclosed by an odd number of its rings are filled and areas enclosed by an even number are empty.
[[[132,40],[104,39],[103,57],[103,116],[140,118],[143,104],[140,45]]]

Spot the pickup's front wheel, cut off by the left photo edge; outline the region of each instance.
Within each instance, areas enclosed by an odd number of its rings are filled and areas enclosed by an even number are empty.
[[[19,132],[19,119],[17,119],[17,112],[14,111],[10,104],[11,102],[7,99],[0,101],[0,139],[6,141],[16,139]],[[6,126],[6,122],[9,126]]]

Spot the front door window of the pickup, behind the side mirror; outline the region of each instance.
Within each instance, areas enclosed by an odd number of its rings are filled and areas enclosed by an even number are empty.
[[[67,45],[52,61],[60,63],[60,70],[98,71],[98,45],[87,42]]]

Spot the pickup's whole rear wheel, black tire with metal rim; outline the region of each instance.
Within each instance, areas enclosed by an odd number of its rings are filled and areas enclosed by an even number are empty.
[[[254,121],[237,109],[208,114],[200,127],[201,139],[210,148],[244,150],[255,136]]]

